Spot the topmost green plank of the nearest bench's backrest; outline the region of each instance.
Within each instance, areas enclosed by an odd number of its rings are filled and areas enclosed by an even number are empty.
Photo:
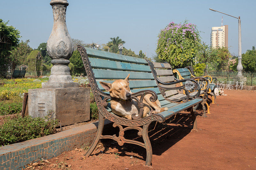
[[[148,65],[148,62],[145,59],[140,59],[137,57],[131,57],[131,56],[126,56],[126,55],[121,55],[116,53],[110,53],[102,50],[92,49],[89,47],[84,47],[84,48],[86,49],[86,53],[90,57]]]

